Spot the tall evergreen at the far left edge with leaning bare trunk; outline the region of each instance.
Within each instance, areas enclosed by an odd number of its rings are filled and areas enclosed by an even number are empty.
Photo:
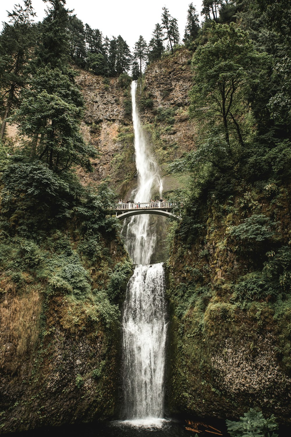
[[[24,0],[24,7],[17,5],[8,12],[10,24],[4,23],[0,35],[0,99],[3,105],[0,139],[3,139],[10,110],[17,104],[17,94],[27,80],[27,62],[34,44],[34,16],[31,0]]]

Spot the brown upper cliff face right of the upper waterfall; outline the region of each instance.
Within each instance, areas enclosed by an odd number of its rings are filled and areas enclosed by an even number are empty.
[[[152,152],[163,176],[164,195],[189,184],[186,174],[172,174],[168,166],[183,153],[195,149],[197,131],[189,120],[189,90],[192,86],[191,53],[186,49],[152,63],[146,70],[137,96]]]

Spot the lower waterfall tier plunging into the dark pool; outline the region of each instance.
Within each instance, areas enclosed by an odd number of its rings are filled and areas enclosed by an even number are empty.
[[[125,413],[129,419],[162,417],[165,314],[162,263],[135,267],[123,316]]]

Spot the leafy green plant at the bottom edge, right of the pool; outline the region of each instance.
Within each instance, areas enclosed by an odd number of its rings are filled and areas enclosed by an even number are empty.
[[[227,431],[231,437],[278,437],[274,431],[278,429],[276,417],[265,419],[261,411],[250,408],[239,422],[226,420]]]

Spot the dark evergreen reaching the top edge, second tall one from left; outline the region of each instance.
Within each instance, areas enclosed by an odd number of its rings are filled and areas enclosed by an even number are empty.
[[[43,0],[50,3],[46,17],[41,24],[40,41],[36,49],[37,66],[50,64],[64,71],[68,65],[70,53],[70,14],[64,7],[65,0]]]

